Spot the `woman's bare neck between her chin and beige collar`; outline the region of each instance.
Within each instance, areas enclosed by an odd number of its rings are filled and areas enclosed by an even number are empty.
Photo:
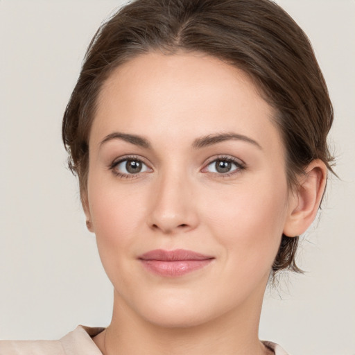
[[[162,327],[137,316],[115,293],[112,322],[96,344],[104,355],[270,354],[258,338],[262,296],[258,298],[203,324]]]

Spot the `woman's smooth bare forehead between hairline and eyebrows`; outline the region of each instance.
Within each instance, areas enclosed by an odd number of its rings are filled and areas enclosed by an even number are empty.
[[[107,78],[91,138],[112,130],[157,140],[236,131],[280,144],[274,115],[248,75],[230,64],[201,53],[149,53]]]

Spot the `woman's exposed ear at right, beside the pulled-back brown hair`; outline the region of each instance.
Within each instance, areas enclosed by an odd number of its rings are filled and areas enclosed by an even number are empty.
[[[304,175],[299,177],[298,183],[292,192],[284,225],[286,236],[299,236],[306,232],[313,222],[327,184],[327,166],[320,159],[313,160],[307,166]]]

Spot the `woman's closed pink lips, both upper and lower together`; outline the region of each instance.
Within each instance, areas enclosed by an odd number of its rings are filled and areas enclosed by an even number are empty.
[[[192,250],[150,250],[138,257],[150,272],[163,277],[180,277],[209,265],[214,257]]]

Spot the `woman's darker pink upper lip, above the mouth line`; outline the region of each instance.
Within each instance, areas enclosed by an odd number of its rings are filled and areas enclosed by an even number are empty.
[[[207,260],[214,259],[209,255],[193,252],[192,250],[175,249],[175,250],[150,250],[141,254],[138,259],[141,260],[160,260],[160,261],[179,261],[179,260]]]

